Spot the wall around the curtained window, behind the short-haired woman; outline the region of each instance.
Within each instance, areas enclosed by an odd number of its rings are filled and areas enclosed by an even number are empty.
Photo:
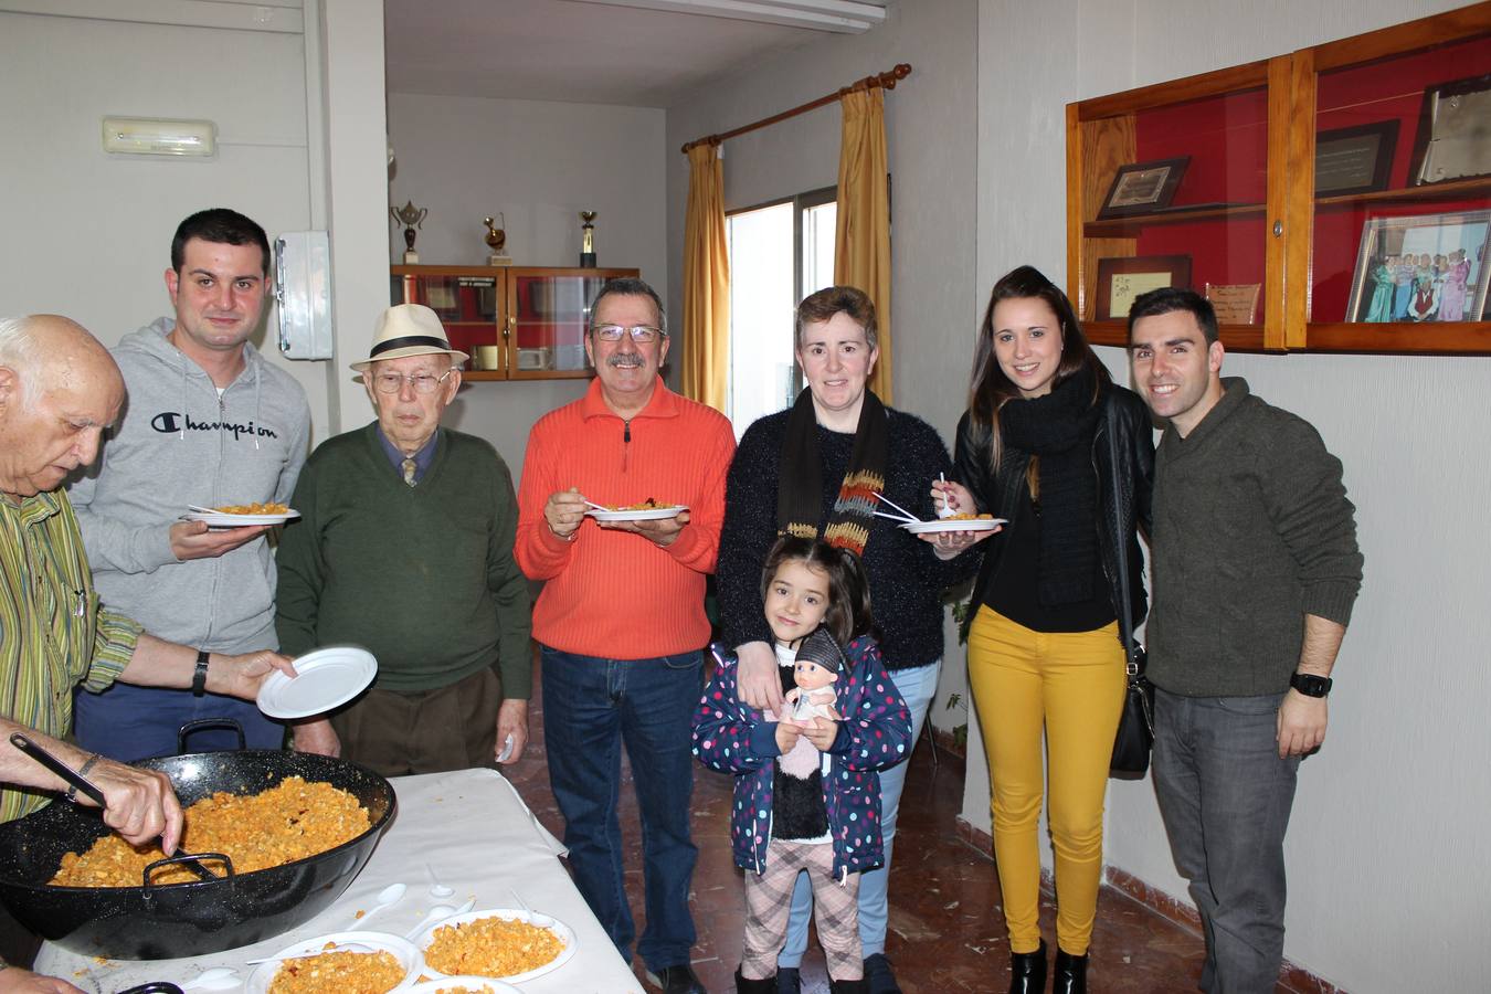
[[[683,222],[689,192],[684,142],[769,116],[839,86],[910,63],[886,94],[892,173],[892,332],[895,407],[951,440],[972,356],[975,125],[974,0],[893,3],[887,24],[860,36],[825,36],[801,49],[756,60],[750,72],[704,88],[668,110],[668,258],[672,307],[681,303]],[[725,145],[725,207],[750,207],[838,182],[841,116],[813,110]],[[950,377],[950,370],[956,374]],[[957,645],[948,626],[948,644]],[[948,693],[966,694],[957,651],[942,669],[932,706],[939,726],[962,723]]]

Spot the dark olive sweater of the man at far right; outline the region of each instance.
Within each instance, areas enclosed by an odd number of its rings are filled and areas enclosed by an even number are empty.
[[[1340,460],[1242,379],[1154,453],[1150,680],[1187,697],[1288,690],[1305,615],[1346,624],[1361,589]]]

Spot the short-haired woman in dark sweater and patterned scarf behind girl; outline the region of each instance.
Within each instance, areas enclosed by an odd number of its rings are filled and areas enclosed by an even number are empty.
[[[875,306],[853,286],[830,286],[798,307],[796,355],[808,387],[789,410],[753,423],[731,463],[717,566],[723,641],[740,659],[740,696],[781,711],[783,683],[760,599],[760,568],[778,535],[822,536],[854,550],[869,575],[886,669],[911,709],[911,742],[926,720],[942,662],[945,587],[972,575],[971,542],[929,545],[883,517],[877,493],[935,516],[929,483],[951,469],[926,422],[889,408],[866,383],[880,356]],[[945,538],[945,536],[944,536]],[[790,687],[790,671],[787,674]],[[910,756],[910,750],[908,750]],[[880,775],[886,864],[863,875],[859,931],[872,994],[899,991],[886,958],[886,875],[907,763]],[[778,991],[799,990],[811,890],[798,881]]]

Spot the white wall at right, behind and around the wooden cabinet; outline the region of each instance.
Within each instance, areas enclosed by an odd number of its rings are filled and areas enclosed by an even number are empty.
[[[1021,261],[1065,282],[1065,103],[1454,6],[980,0],[978,286]],[[1330,736],[1300,773],[1285,954],[1357,994],[1484,990],[1491,861],[1472,833],[1491,818],[1491,359],[1236,355],[1226,371],[1340,456],[1366,554]],[[987,829],[975,762],[965,791],[965,817]],[[1108,861],[1184,899],[1150,782],[1114,782],[1108,812]]]

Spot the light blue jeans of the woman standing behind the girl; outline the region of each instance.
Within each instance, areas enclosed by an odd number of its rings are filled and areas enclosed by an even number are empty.
[[[907,767],[911,765],[911,753],[921,736],[921,723],[926,721],[927,708],[936,694],[936,675],[942,668],[942,660],[917,666],[915,669],[898,669],[890,674],[896,683],[896,690],[911,711],[911,748],[907,759],[890,769],[880,770],[880,832],[886,841],[884,866],[860,873],[859,876],[859,942],[865,957],[886,951],[886,922],[890,918],[890,851],[896,841],[896,814],[901,809],[901,790],[907,785]],[[799,967],[802,954],[808,951],[808,919],[813,917],[813,884],[807,873],[798,875],[798,887],[792,891],[792,918],[787,919],[787,945],[777,957],[777,967]]]

